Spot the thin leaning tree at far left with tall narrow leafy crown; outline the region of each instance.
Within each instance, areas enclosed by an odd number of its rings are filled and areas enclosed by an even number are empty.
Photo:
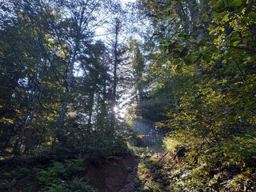
[[[42,52],[38,49],[38,39],[35,38],[37,26],[32,24],[36,19],[35,14],[39,10],[30,10],[27,3],[17,3],[13,6],[17,16],[13,18],[14,25],[9,24],[2,29],[4,34],[2,40],[6,42],[4,49],[9,49],[12,53],[9,54],[10,56],[7,56],[8,53],[3,54],[3,58],[12,58],[4,64],[13,65],[14,71],[18,72],[19,70],[18,79],[14,80],[18,84],[13,87],[14,93],[10,97],[14,100],[12,108],[18,111],[14,124],[21,127],[17,144],[14,146],[14,153],[16,154],[20,152],[26,126],[38,117],[42,95],[42,82],[39,79],[42,78],[41,67],[44,68],[41,60]]]

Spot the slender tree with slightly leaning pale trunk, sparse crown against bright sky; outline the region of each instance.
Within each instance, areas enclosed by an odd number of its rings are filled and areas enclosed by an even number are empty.
[[[81,50],[85,49],[86,44],[90,42],[92,34],[90,26],[94,25],[94,13],[98,10],[99,6],[99,2],[94,1],[66,2],[63,10],[69,13],[70,18],[62,18],[59,23],[56,21],[56,18],[53,18],[51,21],[51,25],[54,29],[56,38],[58,38],[59,45],[62,48],[66,47],[66,49],[62,51],[65,54],[65,59],[68,64],[65,77],[66,90],[56,130],[56,137],[59,142],[64,142],[65,139],[63,135],[63,126],[74,74],[74,63],[77,62],[77,58]],[[66,28],[62,28],[62,26],[66,26]]]

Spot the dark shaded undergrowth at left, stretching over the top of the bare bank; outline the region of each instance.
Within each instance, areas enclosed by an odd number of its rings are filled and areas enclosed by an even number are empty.
[[[86,150],[53,146],[5,158],[0,161],[0,191],[94,191],[84,178],[86,162],[107,161],[124,153],[127,147],[115,141],[102,150],[98,146]]]

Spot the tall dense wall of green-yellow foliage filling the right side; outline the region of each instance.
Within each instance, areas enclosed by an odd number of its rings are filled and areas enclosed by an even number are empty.
[[[165,101],[160,112],[167,119],[157,126],[170,129],[166,150],[185,151],[178,162],[155,161],[162,175],[146,186],[254,191],[255,2],[142,0],[138,6],[153,30],[146,44],[147,94],[152,102]]]

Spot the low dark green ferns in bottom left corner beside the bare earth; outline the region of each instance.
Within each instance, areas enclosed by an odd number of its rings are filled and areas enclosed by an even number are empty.
[[[17,162],[13,167],[2,167],[0,191],[94,191],[85,182],[85,169],[81,157],[37,166],[20,167]]]

